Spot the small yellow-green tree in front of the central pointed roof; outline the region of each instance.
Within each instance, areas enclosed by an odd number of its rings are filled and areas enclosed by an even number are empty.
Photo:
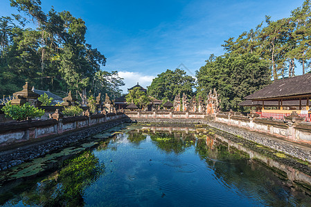
[[[144,108],[151,101],[150,97],[148,97],[145,92],[139,90],[139,87],[130,90],[125,98],[127,103],[134,103],[139,108]]]

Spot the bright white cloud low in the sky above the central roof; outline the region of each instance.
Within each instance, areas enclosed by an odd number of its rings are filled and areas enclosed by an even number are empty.
[[[143,88],[146,88],[150,86],[152,79],[155,78],[154,76],[144,75],[141,72],[118,71],[118,75],[124,79],[125,86],[121,87],[123,93],[127,93],[127,88],[135,86],[137,82],[139,82],[139,85],[143,86]]]

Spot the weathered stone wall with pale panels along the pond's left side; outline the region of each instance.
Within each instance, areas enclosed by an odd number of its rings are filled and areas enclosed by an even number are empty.
[[[109,113],[107,115],[91,115],[66,117],[57,121],[55,119],[47,120],[29,120],[12,121],[0,124],[0,146],[6,146],[21,141],[35,141],[46,137],[62,135],[64,132],[73,132],[81,128],[87,128],[96,124],[103,124],[107,121],[123,119],[123,113]]]

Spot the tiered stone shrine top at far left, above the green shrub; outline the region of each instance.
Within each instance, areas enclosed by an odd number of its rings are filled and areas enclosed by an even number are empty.
[[[32,106],[40,106],[42,104],[41,101],[38,101],[39,95],[31,90],[28,82],[23,86],[23,90],[13,93],[13,97],[12,105],[23,105],[26,102]]]

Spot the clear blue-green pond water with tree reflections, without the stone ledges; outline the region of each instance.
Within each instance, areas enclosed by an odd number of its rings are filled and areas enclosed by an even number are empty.
[[[4,206],[310,206],[265,166],[211,137],[131,131],[15,187]],[[6,188],[8,190],[6,190]]]

